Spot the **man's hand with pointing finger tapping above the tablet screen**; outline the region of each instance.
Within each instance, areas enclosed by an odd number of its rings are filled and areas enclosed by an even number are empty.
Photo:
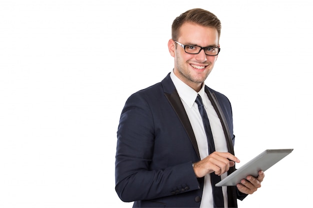
[[[201,178],[206,174],[214,172],[216,175],[227,172],[229,167],[239,163],[239,159],[228,152],[213,152],[203,160],[197,162],[193,166],[193,171],[197,178]]]

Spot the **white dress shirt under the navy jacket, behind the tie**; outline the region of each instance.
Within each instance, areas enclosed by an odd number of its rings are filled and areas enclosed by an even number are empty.
[[[204,92],[204,84],[199,92],[194,91],[191,87],[182,82],[173,71],[170,73],[170,78],[173,81],[175,88],[178,92],[180,100],[189,118],[197,145],[200,153],[200,159],[204,159],[208,156],[208,144],[205,135],[205,130],[203,127],[200,112],[198,110],[195,99],[197,94],[202,98],[205,111],[207,113],[208,120],[210,122],[210,127],[213,135],[215,151],[216,152],[228,152],[225,135],[220,123],[220,120],[209,101],[206,93]],[[227,173],[221,175],[221,179],[225,178]],[[222,187],[223,197],[224,197],[224,207],[227,208],[227,187]],[[200,208],[212,208],[213,207],[213,196],[212,187],[210,181],[210,175],[204,176],[204,187],[202,193],[202,199]]]

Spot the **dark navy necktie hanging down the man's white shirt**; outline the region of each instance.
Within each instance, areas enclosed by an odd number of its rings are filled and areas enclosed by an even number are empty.
[[[213,140],[211,127],[207,118],[207,114],[204,109],[201,96],[199,94],[197,95],[195,102],[198,105],[199,112],[201,114],[201,118],[202,118],[202,122],[204,126],[204,130],[205,130],[207,143],[208,143],[208,154],[211,154],[212,152],[215,151],[214,140]],[[223,208],[224,199],[223,199],[223,193],[221,191],[221,187],[215,187],[215,184],[220,181],[220,176],[215,175],[213,172],[210,174],[210,177],[211,177],[211,185],[212,185],[212,190],[213,190],[214,208]]]

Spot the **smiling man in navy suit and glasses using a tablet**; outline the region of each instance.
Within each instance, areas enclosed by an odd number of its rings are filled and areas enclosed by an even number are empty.
[[[225,178],[239,162],[230,102],[204,85],[220,50],[220,27],[214,14],[199,8],[176,17],[168,41],[173,70],[125,103],[117,130],[115,190],[122,201],[134,201],[133,207],[237,207],[236,199],[260,187],[262,171],[215,191],[215,178]],[[198,95],[206,113],[198,109]]]

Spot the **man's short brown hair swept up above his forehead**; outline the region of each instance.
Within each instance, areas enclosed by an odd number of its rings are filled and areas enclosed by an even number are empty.
[[[171,25],[171,38],[173,40],[178,38],[179,29],[185,22],[191,22],[201,26],[215,28],[217,30],[219,40],[221,29],[220,20],[217,18],[217,16],[215,16],[215,14],[201,8],[189,9],[174,19]]]

